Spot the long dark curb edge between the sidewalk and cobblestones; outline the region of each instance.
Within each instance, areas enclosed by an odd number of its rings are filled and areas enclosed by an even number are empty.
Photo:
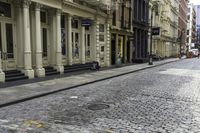
[[[36,95],[33,95],[33,96],[28,96],[28,97],[25,97],[25,98],[21,98],[21,99],[18,99],[18,100],[9,101],[9,102],[0,104],[0,108],[4,108],[4,107],[10,106],[10,105],[17,104],[17,103],[26,102],[26,101],[33,100],[33,99],[40,98],[40,97],[44,97],[44,96],[47,96],[47,95],[55,94],[55,93],[62,92],[62,91],[65,91],[65,90],[69,90],[69,89],[73,89],[73,88],[76,88],[76,87],[81,87],[81,86],[84,86],[84,85],[88,85],[88,84],[104,81],[104,80],[107,80],[107,79],[112,79],[112,78],[116,78],[116,77],[119,77],[119,76],[131,74],[131,73],[134,73],[134,72],[138,72],[138,71],[142,71],[142,70],[146,70],[146,69],[162,66],[162,65],[165,65],[165,64],[173,63],[173,62],[178,62],[178,61],[181,61],[181,60],[183,60],[183,59],[164,62],[164,63],[158,64],[158,65],[147,66],[145,68],[139,68],[137,70],[133,70],[133,71],[130,71],[130,72],[117,74],[117,75],[114,75],[114,76],[98,79],[98,80],[95,80],[95,81],[90,81],[90,82],[82,83],[82,84],[79,84],[79,85],[74,85],[74,86],[67,87],[67,88],[62,88],[62,89],[58,89],[58,90],[43,92],[41,94],[36,94]]]

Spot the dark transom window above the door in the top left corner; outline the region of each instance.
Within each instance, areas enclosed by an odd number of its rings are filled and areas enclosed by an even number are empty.
[[[10,4],[0,2],[0,16],[11,18],[11,5]]]

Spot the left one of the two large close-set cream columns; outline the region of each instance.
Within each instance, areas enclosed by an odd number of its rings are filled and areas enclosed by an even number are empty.
[[[30,17],[29,17],[29,0],[23,1],[23,30],[24,30],[24,73],[29,78],[34,78],[34,71],[31,62],[31,40],[30,40]]]

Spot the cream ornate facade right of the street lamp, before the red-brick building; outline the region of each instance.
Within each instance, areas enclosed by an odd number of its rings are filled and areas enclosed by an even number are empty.
[[[152,8],[154,8],[152,10]],[[160,27],[159,35],[153,36],[152,53],[159,58],[177,57],[178,39],[178,0],[152,0],[150,14],[153,13],[153,27]]]

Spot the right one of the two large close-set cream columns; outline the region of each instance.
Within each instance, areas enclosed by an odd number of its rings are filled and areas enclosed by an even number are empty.
[[[44,77],[45,70],[42,64],[42,43],[41,43],[41,22],[40,22],[40,6],[36,4],[35,6],[35,48],[36,48],[36,76]]]

